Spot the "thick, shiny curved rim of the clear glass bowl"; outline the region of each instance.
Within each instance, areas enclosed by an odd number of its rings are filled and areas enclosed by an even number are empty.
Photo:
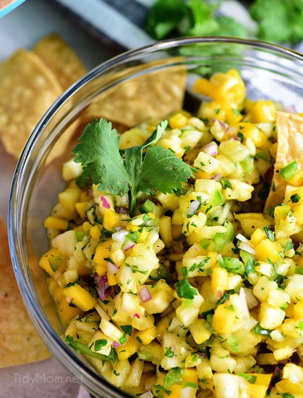
[[[20,193],[22,195],[22,176],[23,168],[30,161],[32,148],[34,147],[38,137],[42,134],[44,127],[48,119],[58,110],[67,99],[69,99],[75,92],[77,92],[81,87],[96,76],[99,76],[107,69],[123,63],[127,60],[135,58],[140,55],[153,53],[158,50],[172,49],[179,46],[199,44],[199,43],[225,43],[225,44],[242,44],[251,47],[253,49],[267,50],[275,53],[276,56],[291,58],[294,61],[303,61],[303,55],[292,49],[269,44],[266,42],[253,40],[253,39],[240,39],[233,37],[185,37],[178,39],[169,39],[156,42],[151,45],[141,47],[139,49],[126,51],[116,57],[103,62],[99,66],[92,69],[85,76],[79,79],[73,86],[71,86],[65,93],[63,93],[58,100],[56,100],[53,105],[46,111],[42,116],[34,130],[32,131],[26,145],[22,151],[22,154],[17,163],[14,176],[11,184],[11,191],[9,196],[8,205],[8,240],[10,255],[12,259],[13,269],[15,277],[19,286],[19,290],[22,299],[27,307],[29,315],[39,331],[41,337],[46,342],[47,346],[52,351],[53,355],[59,360],[59,362],[79,381],[88,391],[94,394],[96,397],[102,398],[125,398],[128,395],[123,394],[123,392],[114,388],[111,384],[98,378],[94,371],[89,367],[84,367],[83,363],[79,360],[76,353],[68,347],[60,336],[54,332],[52,327],[47,322],[46,317],[39,311],[39,303],[37,298],[32,292],[32,286],[26,273],[26,263],[22,260],[22,220],[18,218],[19,207],[18,200],[16,200]],[[303,65],[302,65],[303,66]],[[303,68],[302,68],[302,78],[303,78]],[[24,194],[24,193],[23,193]]]

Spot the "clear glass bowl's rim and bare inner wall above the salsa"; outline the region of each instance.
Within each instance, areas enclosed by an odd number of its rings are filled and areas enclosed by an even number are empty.
[[[195,79],[230,68],[241,74],[248,98],[273,99],[285,107],[296,104],[298,111],[303,111],[303,57],[299,53],[235,38],[168,40],[117,56],[76,82],[44,114],[21,154],[13,177],[8,214],[16,279],[29,314],[50,351],[95,397],[126,395],[98,376],[64,342],[61,337],[64,330],[48,293],[46,275],[38,266],[39,256],[48,249],[43,220],[65,186],[61,164],[71,157],[73,139],[79,134],[83,115],[91,114],[87,109],[93,109],[93,106],[88,108],[92,102],[98,100],[105,114],[116,113],[113,119],[118,125],[125,120],[131,124],[132,120],[138,122],[148,116],[165,116],[162,113],[175,105],[174,95],[180,93],[170,79],[154,79],[154,76],[182,70],[187,76],[184,106],[195,111],[200,101],[191,90]],[[145,90],[149,77],[153,79],[152,92]],[[113,96],[115,103],[119,103],[117,109],[112,109]],[[130,112],[136,103],[138,109],[135,106],[133,118]],[[149,106],[151,103],[156,105]]]

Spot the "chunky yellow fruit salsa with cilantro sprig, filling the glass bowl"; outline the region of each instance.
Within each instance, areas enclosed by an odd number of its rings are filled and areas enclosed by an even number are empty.
[[[197,115],[93,120],[63,165],[39,264],[65,341],[135,397],[303,397],[303,170],[278,164],[303,119],[235,70],[194,91]]]

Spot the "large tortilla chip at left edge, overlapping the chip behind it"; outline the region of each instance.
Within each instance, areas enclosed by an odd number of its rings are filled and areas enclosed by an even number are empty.
[[[0,65],[0,138],[19,157],[48,107],[63,92],[53,72],[34,53],[17,50]]]

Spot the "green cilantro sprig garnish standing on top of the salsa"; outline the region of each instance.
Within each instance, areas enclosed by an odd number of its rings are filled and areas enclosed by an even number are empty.
[[[155,145],[166,126],[167,121],[162,121],[143,145],[119,151],[119,136],[111,122],[93,119],[72,152],[75,162],[83,167],[80,179],[98,185],[98,191],[129,194],[131,215],[139,192],[171,194],[182,188],[182,182],[193,177],[196,169],[170,150]]]

